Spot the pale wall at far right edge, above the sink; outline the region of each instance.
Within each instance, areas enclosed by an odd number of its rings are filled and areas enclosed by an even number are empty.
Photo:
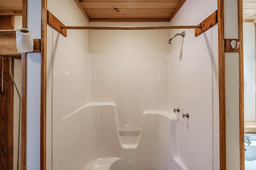
[[[244,120],[255,121],[254,23],[244,23]]]

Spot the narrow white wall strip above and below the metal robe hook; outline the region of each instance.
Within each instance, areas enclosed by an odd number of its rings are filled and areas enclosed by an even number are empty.
[[[238,38],[238,1],[224,1],[225,39]],[[239,146],[239,69],[238,53],[225,53],[226,77],[226,164],[240,170]]]

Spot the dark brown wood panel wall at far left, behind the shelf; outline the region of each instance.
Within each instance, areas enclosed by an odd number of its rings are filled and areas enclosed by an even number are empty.
[[[14,29],[14,16],[0,16],[0,23],[0,29]],[[6,57],[0,57],[0,73],[0,169],[13,170],[14,86],[9,74],[9,59]]]

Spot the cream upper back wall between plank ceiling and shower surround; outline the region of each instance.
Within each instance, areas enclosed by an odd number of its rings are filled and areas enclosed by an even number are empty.
[[[168,26],[168,23],[90,23],[90,26]],[[168,29],[90,30],[90,53],[168,53]]]

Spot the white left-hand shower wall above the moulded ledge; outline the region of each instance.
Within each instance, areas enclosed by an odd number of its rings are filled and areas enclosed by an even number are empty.
[[[74,1],[48,0],[48,10],[64,25],[88,25]],[[46,166],[49,170],[57,170],[62,162],[57,149],[62,143],[59,141],[62,118],[92,102],[92,59],[88,53],[88,37],[85,30],[68,30],[68,37],[64,37],[47,27]]]

